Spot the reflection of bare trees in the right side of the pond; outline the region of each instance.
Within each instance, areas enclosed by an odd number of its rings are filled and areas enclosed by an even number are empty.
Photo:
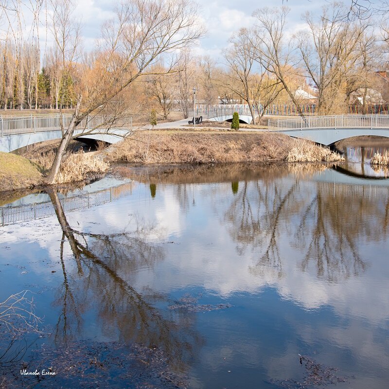
[[[388,231],[388,189],[382,188],[381,198],[368,201],[367,191],[357,191],[353,184],[307,184],[304,177],[315,172],[312,165],[305,172],[306,165],[294,166],[293,178],[286,178],[290,167],[274,169],[285,179],[275,179],[269,169],[261,179],[241,182],[224,216],[238,253],[249,248],[260,253],[250,271],[262,275],[272,269],[281,277],[285,258],[280,238],[289,236],[286,245],[303,253],[303,271],[312,264],[317,276],[328,282],[363,272],[366,263],[358,241],[377,241]]]

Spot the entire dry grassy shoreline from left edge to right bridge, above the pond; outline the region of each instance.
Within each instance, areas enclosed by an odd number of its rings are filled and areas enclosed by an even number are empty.
[[[55,145],[52,146],[53,150]],[[36,152],[27,158],[9,153],[0,153],[0,194],[1,197],[12,197],[9,193],[23,190],[44,190],[44,182],[53,151],[46,154]],[[53,157],[53,155],[51,156]],[[66,161],[66,175],[54,187],[82,185],[97,177],[112,172],[110,163],[128,163],[142,167],[151,166],[201,166],[210,163],[299,163],[299,162],[337,162],[343,157],[318,146],[310,141],[296,140],[285,135],[267,132],[248,133],[239,131],[137,131],[106,149],[92,153],[78,152],[70,154],[74,162]],[[82,174],[76,173],[80,160],[88,160],[89,165]],[[10,161],[15,166],[11,166]],[[104,169],[100,167],[103,166]],[[94,165],[96,165],[94,167]],[[31,167],[26,169],[25,166]],[[95,170],[93,170],[95,168]],[[19,170],[19,174],[14,174]],[[82,178],[82,179],[80,179]],[[8,193],[8,194],[7,194]]]

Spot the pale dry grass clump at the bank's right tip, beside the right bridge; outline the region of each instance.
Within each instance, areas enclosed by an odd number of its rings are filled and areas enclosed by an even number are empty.
[[[286,156],[286,162],[338,162],[344,158],[332,152],[328,147],[317,146],[310,141],[298,141]]]

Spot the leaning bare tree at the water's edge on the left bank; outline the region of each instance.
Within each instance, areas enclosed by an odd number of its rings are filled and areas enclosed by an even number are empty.
[[[48,183],[55,180],[66,146],[83,119],[104,112],[109,102],[139,76],[152,74],[147,70],[162,55],[168,56],[188,47],[202,35],[197,15],[196,5],[189,0],[128,0],[122,3],[116,19],[103,27],[94,55],[94,77],[90,77],[91,68],[87,65],[78,73],[76,105],[47,177]],[[173,69],[176,58],[173,55],[166,73]],[[92,83],[93,88],[89,88],[93,89],[92,94],[85,95],[85,82]],[[109,129],[115,122],[117,115],[107,119],[105,127]],[[88,133],[92,131],[88,130]]]

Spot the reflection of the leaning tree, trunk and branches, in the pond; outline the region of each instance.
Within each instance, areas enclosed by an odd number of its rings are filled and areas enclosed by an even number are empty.
[[[153,304],[166,304],[166,296],[148,290],[146,298],[128,281],[140,266],[163,259],[163,249],[147,243],[137,231],[94,234],[75,230],[68,223],[57,193],[49,191],[49,195],[63,231],[60,261],[64,281],[55,299],[55,305],[61,306],[56,344],[80,336],[83,314],[92,309],[97,312],[103,336],[126,344],[157,345],[171,358],[173,366],[184,369],[185,361],[197,354],[202,343],[192,331],[193,322],[179,316],[173,320],[169,310],[163,313]],[[70,244],[77,274],[69,274],[66,268],[65,241]]]

